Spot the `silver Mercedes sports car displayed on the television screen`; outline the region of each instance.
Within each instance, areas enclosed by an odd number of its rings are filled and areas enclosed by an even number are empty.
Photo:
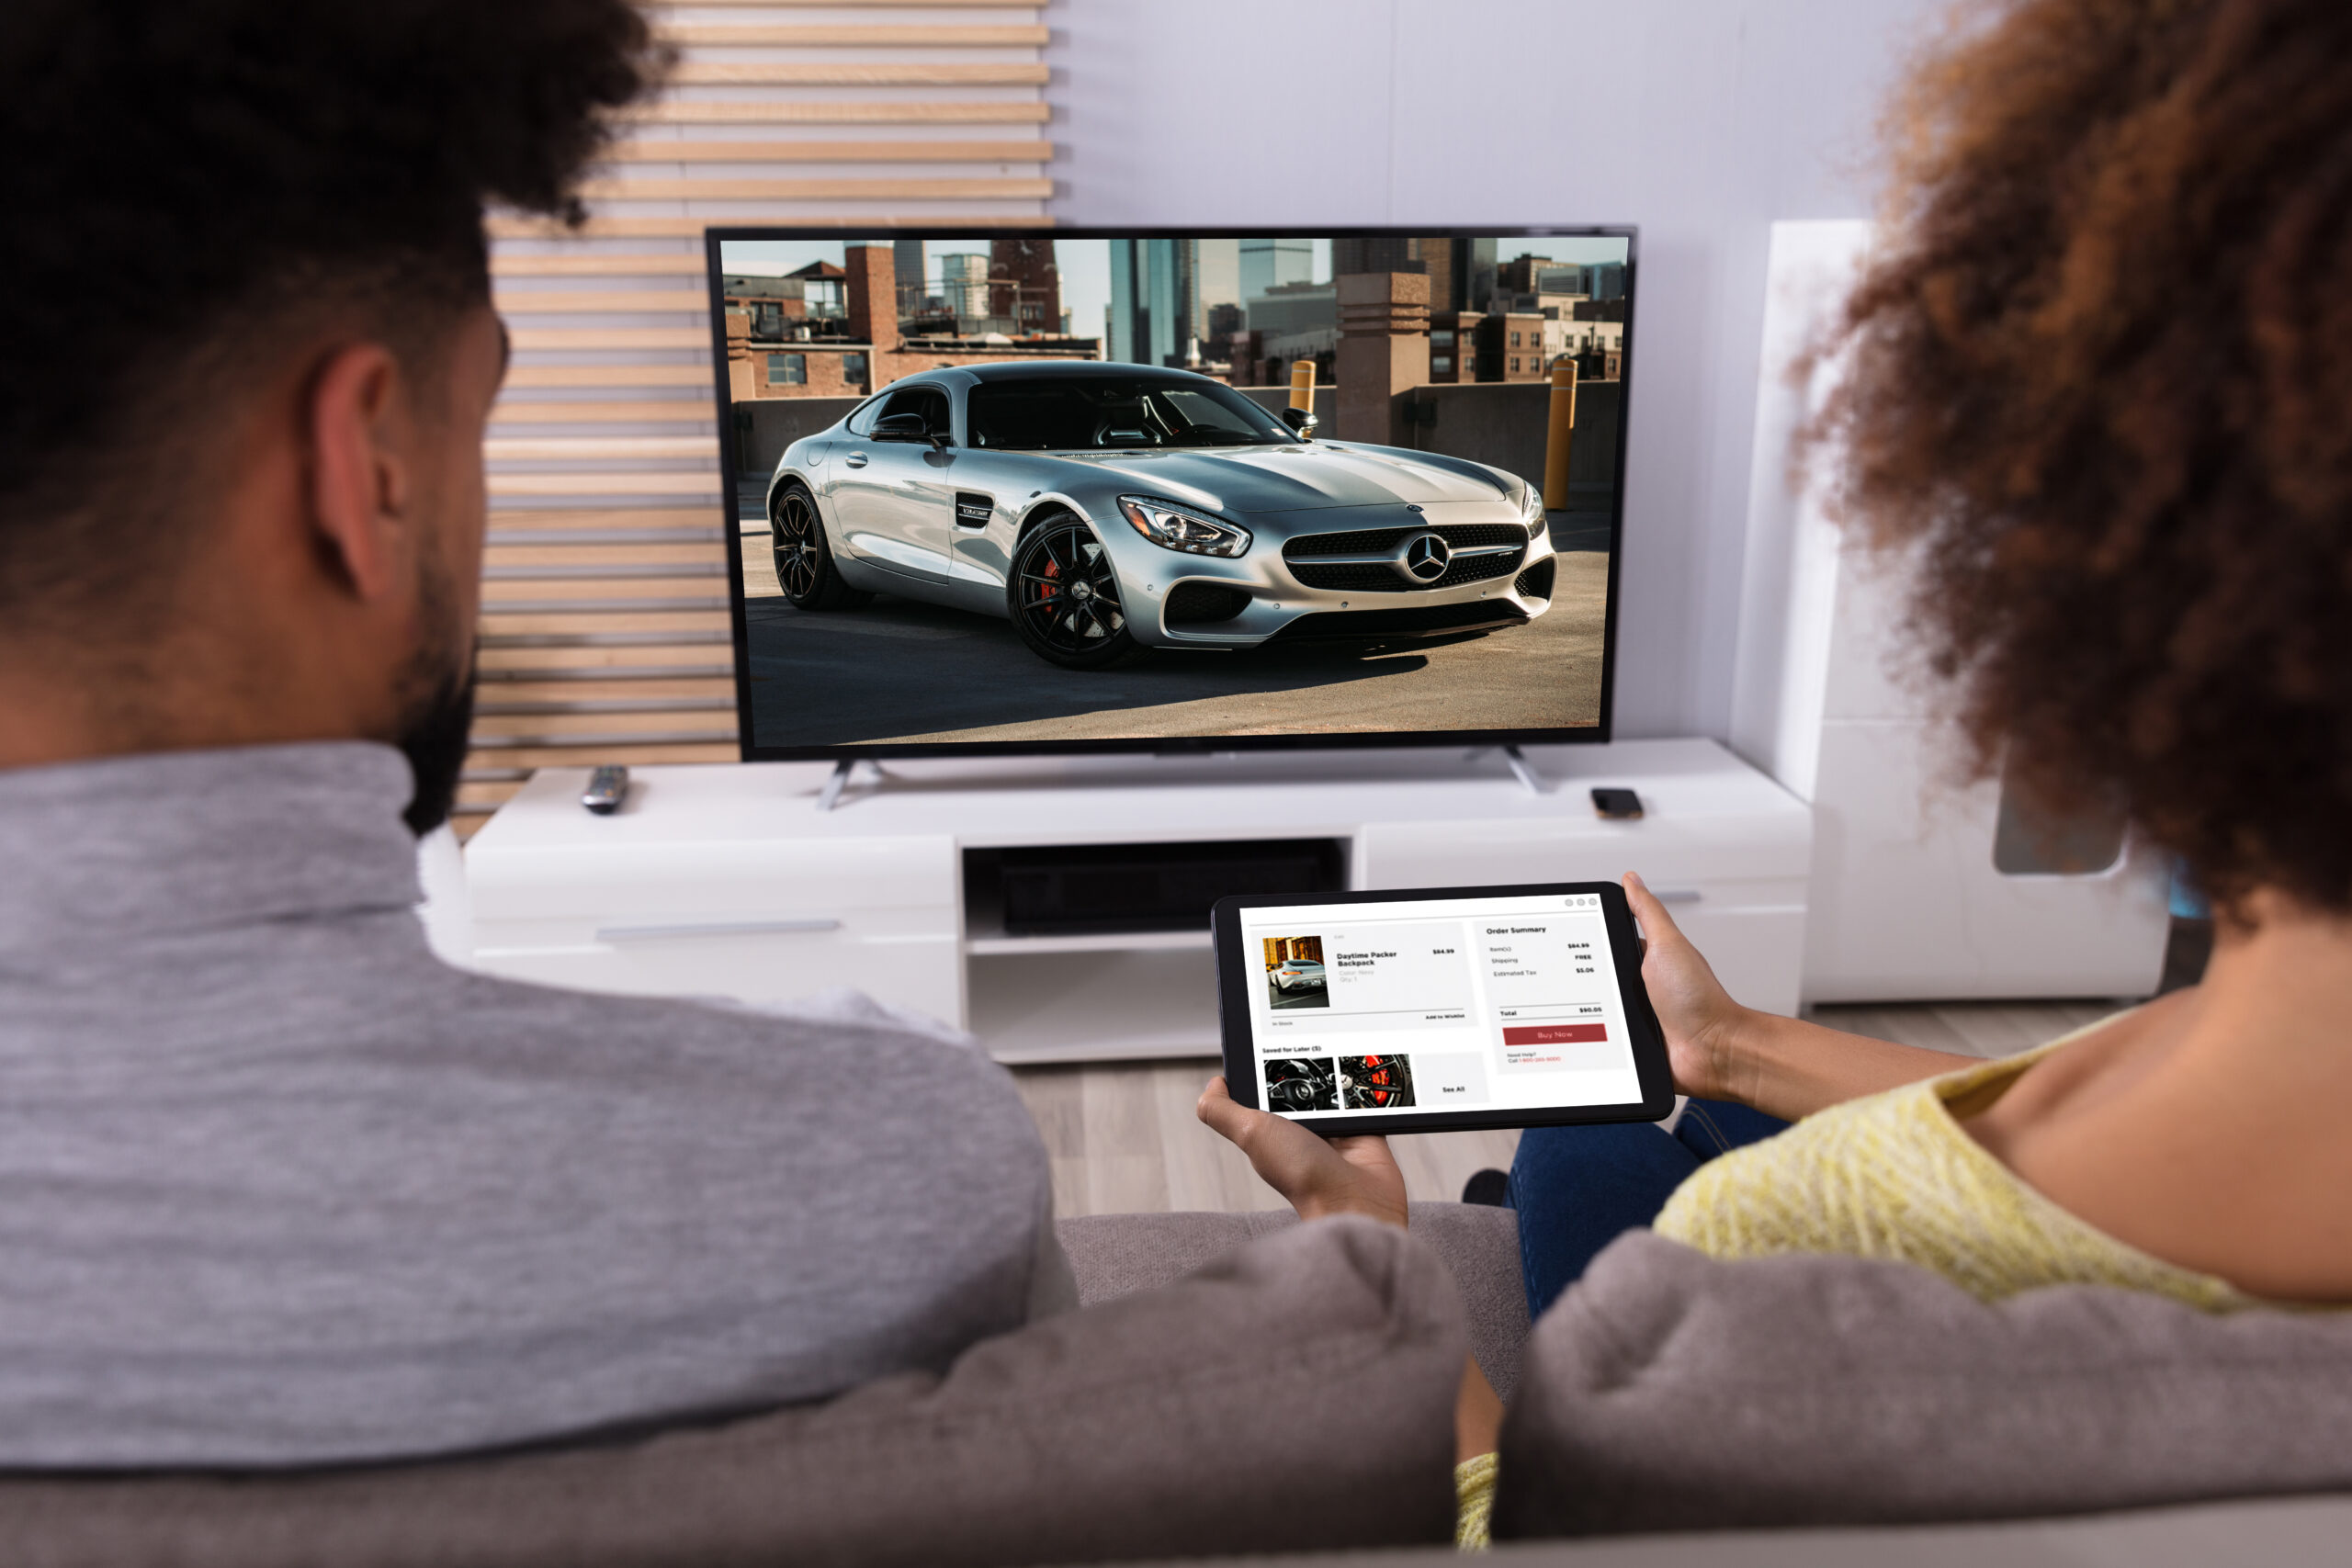
[[[767,487],[800,609],[875,592],[1007,616],[1056,665],[1395,642],[1550,609],[1543,496],[1463,458],[1312,440],[1223,381],[1033,360],[889,383]]]

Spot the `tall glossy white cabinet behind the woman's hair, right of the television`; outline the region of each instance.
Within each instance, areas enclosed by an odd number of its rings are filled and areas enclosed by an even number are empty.
[[[2089,875],[1994,863],[1999,785],[1950,788],[1940,693],[1896,679],[1905,583],[1795,482],[1790,437],[1832,386],[1788,371],[1844,301],[1858,221],[1773,223],[1731,743],[1813,804],[1806,1001],[2145,997],[2166,865],[2126,844]],[[1696,936],[1696,926],[1693,926]]]

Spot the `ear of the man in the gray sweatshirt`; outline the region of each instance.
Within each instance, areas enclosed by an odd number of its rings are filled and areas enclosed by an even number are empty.
[[[360,599],[405,578],[414,428],[400,360],[381,343],[336,348],[310,378],[310,527]]]

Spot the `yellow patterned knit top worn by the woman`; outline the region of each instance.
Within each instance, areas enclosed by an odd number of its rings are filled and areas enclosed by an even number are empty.
[[[1653,1229],[1715,1258],[1846,1253],[1917,1262],[1980,1300],[2089,1284],[2206,1312],[2260,1305],[2225,1279],[2077,1220],[1959,1126],[2072,1039],[1832,1105],[1776,1138],[1719,1154],[1675,1190]]]

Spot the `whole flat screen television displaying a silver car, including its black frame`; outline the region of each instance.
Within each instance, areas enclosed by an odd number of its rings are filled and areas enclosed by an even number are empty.
[[[746,762],[1606,741],[1635,237],[713,228]]]

